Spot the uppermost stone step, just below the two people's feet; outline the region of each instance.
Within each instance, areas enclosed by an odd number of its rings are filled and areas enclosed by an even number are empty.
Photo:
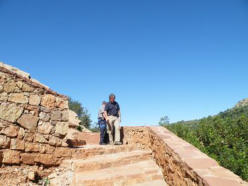
[[[73,159],[86,159],[96,155],[112,154],[118,152],[130,152],[137,150],[134,145],[85,145],[75,149]]]

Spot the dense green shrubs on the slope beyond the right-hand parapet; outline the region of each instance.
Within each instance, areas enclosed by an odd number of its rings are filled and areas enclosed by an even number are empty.
[[[166,127],[248,180],[248,106]]]

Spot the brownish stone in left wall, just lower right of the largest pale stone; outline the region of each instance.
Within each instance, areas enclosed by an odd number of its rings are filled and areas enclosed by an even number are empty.
[[[39,118],[36,116],[33,116],[31,114],[23,114],[20,119],[18,119],[18,123],[30,131],[35,131],[37,127]]]

